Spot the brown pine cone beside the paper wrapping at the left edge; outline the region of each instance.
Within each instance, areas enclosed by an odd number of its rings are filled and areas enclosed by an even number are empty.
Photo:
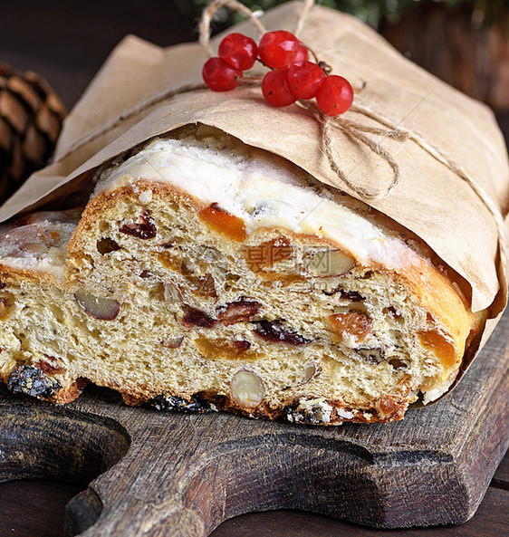
[[[64,117],[42,77],[0,63],[0,203],[47,163]]]

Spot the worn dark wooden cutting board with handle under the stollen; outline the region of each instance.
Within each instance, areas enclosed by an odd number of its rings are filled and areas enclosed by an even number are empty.
[[[381,528],[463,523],[509,440],[508,336],[505,314],[452,394],[390,425],[130,408],[100,388],[58,408],[2,387],[0,481],[91,482],[67,509],[66,531],[83,537],[202,537],[278,508]]]

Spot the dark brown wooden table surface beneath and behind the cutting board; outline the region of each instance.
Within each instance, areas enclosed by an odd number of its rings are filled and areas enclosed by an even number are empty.
[[[185,4],[185,2],[183,2]],[[68,109],[125,34],[159,45],[196,38],[196,22],[169,0],[0,0],[0,62],[41,73]],[[509,112],[497,119],[509,139]],[[1,454],[0,454],[1,456]],[[63,535],[65,504],[82,486],[50,481],[0,484],[0,537]],[[239,516],[213,537],[475,537],[509,534],[509,458],[506,455],[474,518],[461,526],[380,532],[310,513],[275,511]]]

